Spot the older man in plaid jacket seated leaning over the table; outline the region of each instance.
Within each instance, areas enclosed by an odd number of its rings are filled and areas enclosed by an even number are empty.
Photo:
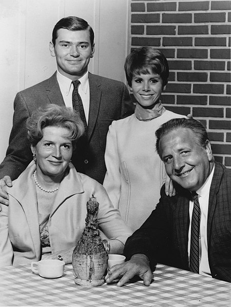
[[[145,285],[157,262],[231,282],[231,170],[214,162],[204,127],[195,119],[171,119],[156,132],[157,151],[177,194],[166,196],[128,238],[129,261],[113,267],[121,286],[135,275]]]

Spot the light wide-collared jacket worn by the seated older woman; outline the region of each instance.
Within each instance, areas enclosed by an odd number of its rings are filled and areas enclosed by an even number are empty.
[[[0,266],[18,265],[41,259],[36,189],[33,180],[35,164],[13,181],[8,189],[9,207],[0,212]],[[49,217],[52,253],[76,245],[85,227],[86,203],[94,195],[99,202],[99,228],[108,238],[125,243],[131,231],[115,210],[99,182],[77,173],[70,164],[69,172],[57,191]]]

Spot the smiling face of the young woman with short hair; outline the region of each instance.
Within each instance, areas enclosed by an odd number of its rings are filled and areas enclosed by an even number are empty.
[[[138,104],[146,109],[152,109],[158,103],[164,88],[161,76],[151,72],[148,74],[136,74],[131,80],[134,97]]]

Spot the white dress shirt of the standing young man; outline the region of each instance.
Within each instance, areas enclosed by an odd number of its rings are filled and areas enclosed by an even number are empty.
[[[62,75],[57,70],[57,81],[60,86],[61,93],[63,95],[64,103],[66,107],[72,107],[72,91],[73,91],[73,84],[72,80]],[[89,89],[89,79],[88,79],[88,71],[83,75],[80,79],[80,85],[78,88],[80,97],[83,101],[84,113],[86,117],[86,121],[88,124],[88,117],[89,117],[89,108],[90,108],[90,89]]]

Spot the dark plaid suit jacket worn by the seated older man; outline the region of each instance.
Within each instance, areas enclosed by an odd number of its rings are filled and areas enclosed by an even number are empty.
[[[165,195],[139,230],[127,239],[124,254],[146,254],[152,271],[157,262],[189,270],[188,228],[190,193],[183,188]],[[145,204],[141,204],[145,206]],[[207,223],[208,261],[214,278],[231,282],[231,170],[215,162],[209,192]]]

